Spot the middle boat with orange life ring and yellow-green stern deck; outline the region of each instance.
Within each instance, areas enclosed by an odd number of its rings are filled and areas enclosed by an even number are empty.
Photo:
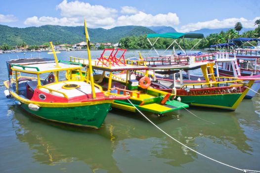
[[[110,52],[108,56],[105,55],[107,51]],[[175,96],[174,94],[148,87],[147,83],[143,84],[136,81],[135,77],[132,78],[131,73],[134,73],[136,70],[148,72],[148,67],[145,64],[139,65],[138,62],[137,65],[126,64],[124,58],[125,51],[126,49],[105,49],[101,57],[97,60],[91,60],[93,69],[102,72],[102,75],[98,75],[99,79],[96,78],[95,82],[99,83],[104,90],[107,90],[107,93],[117,96],[130,95],[129,100],[136,108],[159,115],[188,107],[187,104],[172,100]],[[118,54],[120,54],[119,57],[117,57]],[[88,65],[87,60],[83,58],[70,57],[70,61]],[[125,80],[115,75],[115,73],[121,71],[125,71]],[[79,78],[77,73],[74,72],[71,75],[72,78]],[[105,73],[108,74],[105,75]],[[147,75],[145,74],[145,80],[149,80]],[[146,82],[149,83],[149,81]],[[130,102],[128,100],[116,99],[112,103],[112,107],[136,112],[135,107]]]

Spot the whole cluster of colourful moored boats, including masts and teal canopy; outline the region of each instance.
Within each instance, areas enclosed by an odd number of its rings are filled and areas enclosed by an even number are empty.
[[[159,116],[174,114],[189,105],[234,111],[243,98],[252,98],[260,87],[258,59],[254,61],[255,69],[250,69],[251,66],[243,64],[248,60],[242,56],[236,58],[236,53],[234,56],[227,51],[186,53],[176,42],[176,39],[202,39],[201,34],[147,35],[148,40],[172,38],[182,54],[173,52],[157,57],[140,54],[138,58],[130,58],[125,57],[126,49],[106,48],[94,59],[90,55],[86,23],[85,35],[88,58],[70,57],[61,61],[52,47],[54,59],[7,61],[6,97],[14,98],[16,105],[34,116],[98,129],[110,107],[131,112],[138,109]],[[154,44],[151,45],[156,51]],[[252,70],[248,76],[240,72],[245,66],[247,71]],[[193,75],[194,69],[201,76]]]

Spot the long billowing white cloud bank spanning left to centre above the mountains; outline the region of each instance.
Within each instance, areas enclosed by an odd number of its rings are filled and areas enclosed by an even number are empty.
[[[83,25],[83,20],[86,18],[87,26],[90,28],[112,28],[116,26],[138,25],[138,26],[175,26],[179,24],[179,18],[176,13],[169,12],[168,14],[146,14],[137,11],[131,6],[121,7],[121,13],[132,15],[122,15],[118,17],[118,11],[114,8],[108,8],[101,5],[91,5],[87,2],[78,0],[70,1],[63,0],[56,6],[60,10],[62,18],[57,17],[29,17],[24,21],[24,24],[31,26],[41,25],[61,25],[61,26],[79,26]]]

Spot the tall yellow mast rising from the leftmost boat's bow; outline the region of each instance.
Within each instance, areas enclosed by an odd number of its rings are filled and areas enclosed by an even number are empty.
[[[88,56],[88,68],[89,68],[89,74],[90,74],[90,85],[91,85],[93,98],[96,98],[95,87],[94,87],[94,79],[93,79],[93,71],[92,71],[92,64],[91,64],[91,55],[90,55],[90,43],[89,43],[89,38],[88,38],[88,33],[87,33],[86,19],[84,20],[84,27],[85,27],[85,35],[86,35],[86,42],[87,42],[87,56]],[[86,73],[87,73],[87,71],[86,71]]]

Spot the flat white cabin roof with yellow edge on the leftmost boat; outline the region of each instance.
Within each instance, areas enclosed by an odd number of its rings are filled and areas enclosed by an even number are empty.
[[[30,60],[29,60],[30,59]],[[29,58],[19,59],[14,61],[8,61],[11,64],[12,70],[31,73],[31,74],[42,74],[54,71],[65,71],[83,68],[80,64],[72,63],[68,61],[59,61],[59,66],[53,59],[46,58]],[[49,61],[50,60],[50,61]]]

